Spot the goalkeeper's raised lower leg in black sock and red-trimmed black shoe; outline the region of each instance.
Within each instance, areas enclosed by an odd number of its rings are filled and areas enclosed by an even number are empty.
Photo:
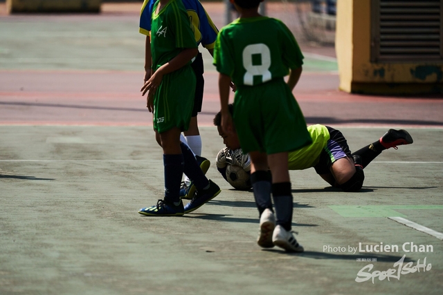
[[[359,155],[361,157],[361,166],[365,168],[372,160],[377,158],[382,151],[390,149],[391,147],[397,149],[397,146],[403,144],[412,144],[413,137],[410,136],[408,131],[400,129],[389,129],[377,142],[372,142],[368,146],[364,146],[352,153],[352,155]]]

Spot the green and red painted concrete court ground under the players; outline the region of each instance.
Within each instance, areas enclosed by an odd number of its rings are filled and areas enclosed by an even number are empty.
[[[341,93],[334,48],[300,41],[294,94],[307,122],[340,129],[352,151],[389,128],[414,143],[383,151],[360,193],[291,171],[304,253],[260,249],[252,193],[231,189],[214,164],[217,198],[180,218],[139,216],[162,197],[163,162],[138,92],[138,6],[7,16],[0,3],[1,295],[441,294],[443,100]],[[223,6],[205,6],[222,26]],[[199,122],[214,162],[224,146],[205,63]]]

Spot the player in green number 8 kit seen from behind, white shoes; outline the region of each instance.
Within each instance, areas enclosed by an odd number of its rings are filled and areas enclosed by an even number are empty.
[[[222,28],[217,37],[214,64],[219,72],[221,126],[231,133],[234,122],[242,149],[251,156],[251,183],[260,213],[258,245],[300,252],[303,247],[291,233],[288,152],[311,144],[305,117],[292,95],[303,56],[282,21],[259,14],[261,1],[230,0],[239,19]],[[228,111],[231,80],[237,87],[233,117]]]

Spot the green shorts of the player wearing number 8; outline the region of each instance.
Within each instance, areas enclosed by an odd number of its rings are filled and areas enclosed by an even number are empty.
[[[238,88],[233,120],[244,153],[289,152],[312,142],[305,117],[283,79]]]

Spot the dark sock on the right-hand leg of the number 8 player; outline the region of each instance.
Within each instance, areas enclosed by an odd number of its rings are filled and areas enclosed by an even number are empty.
[[[272,197],[275,206],[275,221],[287,231],[291,230],[293,198],[291,193],[291,182],[280,182],[272,184]]]

